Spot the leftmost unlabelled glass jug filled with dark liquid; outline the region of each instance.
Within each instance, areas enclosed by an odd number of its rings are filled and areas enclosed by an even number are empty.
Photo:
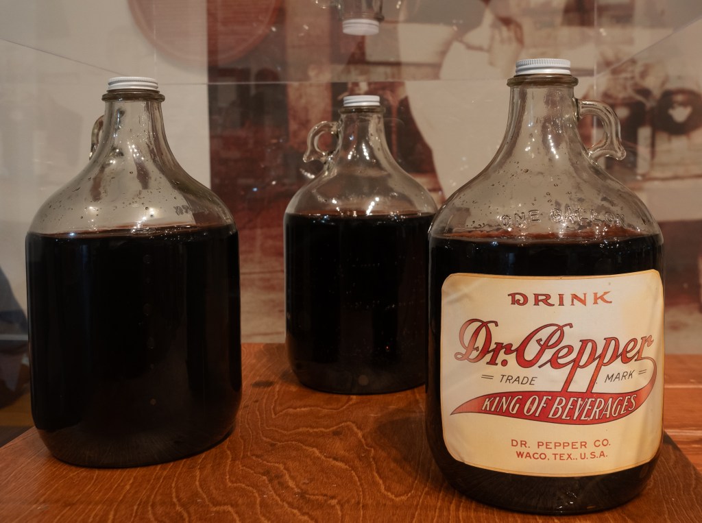
[[[195,454],[241,397],[237,227],[166,142],[153,79],[110,80],[90,161],[26,240],[32,416],[95,467]]]

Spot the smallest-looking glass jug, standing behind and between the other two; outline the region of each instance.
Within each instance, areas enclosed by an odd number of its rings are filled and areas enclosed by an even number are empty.
[[[317,124],[305,161],[322,173],[284,218],[286,345],[303,385],[376,394],[425,379],[431,195],[388,150],[378,96],[347,96]],[[319,147],[325,133],[336,149]]]

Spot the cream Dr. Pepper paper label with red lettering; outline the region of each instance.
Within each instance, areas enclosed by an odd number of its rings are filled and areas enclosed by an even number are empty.
[[[661,277],[451,274],[440,364],[458,461],[545,476],[645,463],[663,430]]]

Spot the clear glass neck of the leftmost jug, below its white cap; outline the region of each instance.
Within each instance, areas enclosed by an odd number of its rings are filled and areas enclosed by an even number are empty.
[[[158,91],[108,91],[102,133],[94,156],[117,154],[120,157],[152,159],[158,164],[173,158],[164,131]]]

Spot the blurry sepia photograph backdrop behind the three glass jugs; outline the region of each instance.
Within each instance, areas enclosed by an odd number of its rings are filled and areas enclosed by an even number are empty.
[[[501,143],[515,60],[567,58],[627,157],[603,166],[665,237],[666,349],[702,337],[702,2],[0,0],[0,393],[26,382],[24,237],[81,171],[107,79],[159,81],[166,135],[240,230],[244,341],[284,339],[282,219],[307,133],[380,95],[390,150],[440,204]],[[378,33],[343,32],[364,8]],[[595,121],[581,121],[586,143]],[[331,147],[331,144],[330,144]],[[24,378],[22,378],[24,376]],[[1,396],[1,394],[0,394]]]

